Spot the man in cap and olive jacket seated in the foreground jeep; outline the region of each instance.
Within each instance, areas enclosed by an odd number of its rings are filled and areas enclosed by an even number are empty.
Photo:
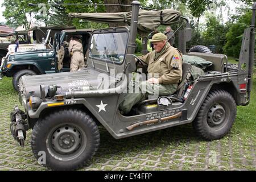
[[[147,71],[154,75],[147,81],[142,81],[140,84],[133,80],[129,84],[129,90],[133,87],[142,90],[143,86],[146,87],[146,94],[160,96],[169,96],[176,92],[177,85],[182,77],[182,53],[172,47],[167,42],[167,36],[158,33],[152,37],[151,40],[154,45],[154,51],[140,57],[145,63],[148,64]],[[156,78],[158,76],[158,78]],[[128,93],[125,100],[119,105],[121,113],[127,114],[131,108],[139,102],[146,99],[146,94],[141,93]]]

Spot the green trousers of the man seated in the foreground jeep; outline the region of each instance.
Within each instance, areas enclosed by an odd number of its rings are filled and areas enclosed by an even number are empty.
[[[137,75],[135,77],[137,77]],[[119,105],[119,110],[121,110],[123,114],[128,114],[134,105],[146,100],[148,96],[156,98],[159,96],[170,96],[176,92],[177,84],[150,84],[147,81],[139,82],[138,79],[131,79],[128,89],[129,93],[126,94],[125,99]],[[131,93],[131,91],[133,93]]]

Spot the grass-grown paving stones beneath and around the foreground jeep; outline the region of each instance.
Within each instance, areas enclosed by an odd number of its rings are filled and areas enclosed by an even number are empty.
[[[47,170],[32,154],[31,130],[24,148],[11,137],[9,114],[19,104],[17,93],[0,94],[0,170]],[[100,133],[100,148],[81,170],[256,170],[255,132],[240,132],[236,123],[212,142],[197,137],[191,125],[119,140],[102,127]]]

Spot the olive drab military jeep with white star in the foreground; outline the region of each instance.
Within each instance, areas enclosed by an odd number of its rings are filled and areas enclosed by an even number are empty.
[[[67,170],[87,164],[100,145],[98,125],[105,127],[115,139],[121,139],[193,123],[203,139],[214,140],[224,137],[232,128],[237,105],[249,104],[256,3],[251,26],[243,35],[238,67],[225,64],[225,55],[192,52],[213,61],[212,70],[191,81],[191,65],[183,64],[183,78],[174,95],[148,98],[135,105],[130,115],[121,114],[118,106],[125,99],[123,90],[130,82],[126,76],[141,72],[136,69],[134,55],[137,31],[150,32],[148,24],[170,24],[180,19],[176,10],[139,10],[138,1],[133,1],[132,7],[131,13],[110,14],[112,18],[117,15],[121,22],[127,20],[130,27],[92,32],[88,68],[21,78],[19,96],[25,111],[15,106],[11,112],[11,134],[24,146],[26,131],[32,129],[32,151],[37,159],[45,154],[43,164],[47,168]],[[97,21],[104,22],[108,14],[93,17],[99,16],[102,19]],[[143,17],[147,18],[146,24]],[[181,34],[184,32],[189,31]],[[102,88],[108,79],[112,82]]]

